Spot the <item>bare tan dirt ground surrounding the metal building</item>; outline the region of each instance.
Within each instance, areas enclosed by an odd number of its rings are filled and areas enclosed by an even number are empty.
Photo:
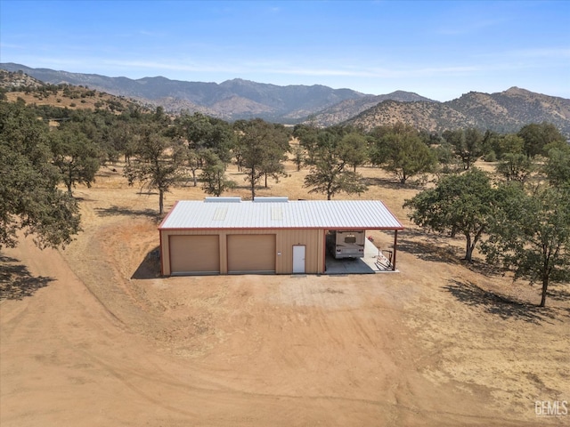
[[[323,198],[289,169],[259,195]],[[361,172],[407,227],[399,273],[160,278],[158,196],[102,169],[73,244],[0,254],[0,425],[570,424],[535,407],[570,400],[568,287],[537,308],[538,286],[408,222],[418,189]]]

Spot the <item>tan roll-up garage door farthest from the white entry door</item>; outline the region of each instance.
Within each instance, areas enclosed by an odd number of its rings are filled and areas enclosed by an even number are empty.
[[[220,272],[218,236],[170,236],[171,274]]]

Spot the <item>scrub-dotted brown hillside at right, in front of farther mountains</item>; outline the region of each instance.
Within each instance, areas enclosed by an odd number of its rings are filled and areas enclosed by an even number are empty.
[[[398,121],[428,132],[476,127],[500,133],[546,121],[570,135],[570,100],[511,87],[501,93],[470,92],[441,103],[383,101],[345,123],[371,129]]]

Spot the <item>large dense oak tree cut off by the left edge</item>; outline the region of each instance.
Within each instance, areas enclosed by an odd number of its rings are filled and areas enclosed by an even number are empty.
[[[0,247],[17,232],[40,248],[66,246],[81,230],[77,201],[57,188],[48,127],[23,102],[0,102]]]

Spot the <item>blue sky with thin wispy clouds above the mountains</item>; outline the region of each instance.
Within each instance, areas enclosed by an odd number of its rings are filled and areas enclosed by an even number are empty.
[[[0,0],[0,61],[110,77],[570,98],[570,1]]]

